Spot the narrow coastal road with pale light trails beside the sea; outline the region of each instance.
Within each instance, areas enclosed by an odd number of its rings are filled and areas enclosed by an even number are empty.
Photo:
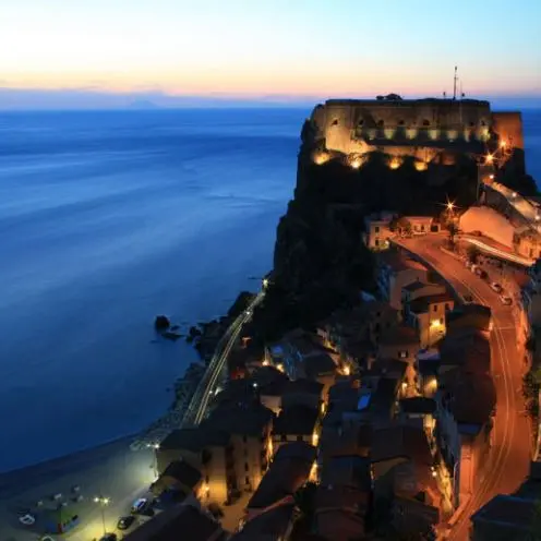
[[[244,324],[250,321],[254,308],[265,298],[265,290],[261,290],[248,308],[231,323],[220,338],[216,350],[208,363],[205,374],[193,394],[182,420],[182,428],[197,425],[205,418],[208,404],[216,394],[223,381],[221,374],[227,365],[227,358],[239,338]]]

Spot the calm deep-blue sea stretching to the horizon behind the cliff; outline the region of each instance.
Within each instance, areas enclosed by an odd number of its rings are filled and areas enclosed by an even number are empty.
[[[132,434],[272,268],[309,109],[0,112],[0,471]],[[541,181],[541,110],[525,110]]]

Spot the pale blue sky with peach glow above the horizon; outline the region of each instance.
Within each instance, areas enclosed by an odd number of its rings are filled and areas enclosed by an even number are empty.
[[[0,107],[437,96],[455,64],[471,97],[541,103],[540,21],[533,0],[0,0]]]

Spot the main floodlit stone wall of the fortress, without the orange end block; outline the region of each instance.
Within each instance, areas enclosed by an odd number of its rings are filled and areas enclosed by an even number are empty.
[[[397,130],[412,141],[419,132],[431,139],[469,140],[483,139],[492,123],[490,104],[477,100],[328,100],[324,111],[317,109],[312,118],[326,147],[345,154],[368,152],[365,140],[377,136],[376,131],[389,140]]]

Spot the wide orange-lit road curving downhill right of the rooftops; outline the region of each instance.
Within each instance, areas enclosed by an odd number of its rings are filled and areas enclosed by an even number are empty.
[[[480,486],[471,495],[448,536],[449,540],[468,539],[469,517],[496,494],[515,491],[525,480],[530,461],[530,428],[521,393],[524,352],[517,341],[513,306],[502,304],[489,284],[467,269],[452,255],[440,250],[442,236],[400,240],[442,275],[460,294],[492,309],[492,375],[497,406],[492,433],[490,464]],[[471,405],[476,407],[474,404]]]

